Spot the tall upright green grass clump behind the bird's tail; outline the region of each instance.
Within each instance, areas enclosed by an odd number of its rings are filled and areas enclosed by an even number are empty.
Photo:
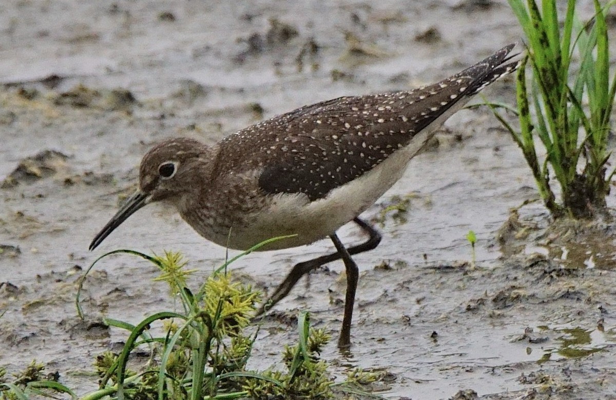
[[[527,41],[517,71],[519,130],[496,116],[522,149],[551,215],[591,217],[606,207],[614,174],[607,173],[607,139],[616,79],[610,83],[606,24],[614,1],[602,6],[594,0],[596,14],[588,23],[580,21],[575,0],[567,1],[564,19],[556,0],[543,0],[541,7],[535,0],[508,2]],[[576,54],[579,62],[574,63]],[[538,156],[539,143],[545,158]]]

